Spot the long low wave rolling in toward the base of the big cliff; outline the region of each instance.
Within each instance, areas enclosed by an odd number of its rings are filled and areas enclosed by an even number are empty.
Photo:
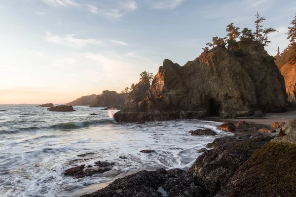
[[[14,128],[13,130],[1,130],[0,134],[18,133],[24,131],[36,131],[36,130],[74,130],[78,128],[86,128],[93,125],[115,125],[118,124],[113,119],[101,119],[92,120],[85,122],[68,122],[51,125],[48,127],[25,127],[25,128]]]

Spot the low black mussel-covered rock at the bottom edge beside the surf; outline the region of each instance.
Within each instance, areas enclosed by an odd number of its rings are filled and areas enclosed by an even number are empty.
[[[109,186],[81,197],[205,197],[209,192],[202,180],[186,175],[181,169],[140,171],[116,179]]]

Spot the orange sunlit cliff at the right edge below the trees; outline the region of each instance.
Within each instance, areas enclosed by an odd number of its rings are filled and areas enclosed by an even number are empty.
[[[296,107],[296,62],[290,62],[281,67],[285,78],[289,106]]]

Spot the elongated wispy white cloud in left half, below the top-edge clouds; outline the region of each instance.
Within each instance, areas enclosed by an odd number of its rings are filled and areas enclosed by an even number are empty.
[[[46,32],[46,40],[58,45],[68,46],[75,49],[80,49],[88,44],[101,44],[102,42],[97,39],[77,39],[74,38],[74,34],[67,35],[65,37],[54,35],[50,32]]]

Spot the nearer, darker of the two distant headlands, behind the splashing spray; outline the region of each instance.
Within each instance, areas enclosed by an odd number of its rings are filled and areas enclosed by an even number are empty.
[[[98,95],[95,101],[89,107],[110,107],[122,105],[125,101],[126,94],[118,94],[115,91],[105,90]]]

